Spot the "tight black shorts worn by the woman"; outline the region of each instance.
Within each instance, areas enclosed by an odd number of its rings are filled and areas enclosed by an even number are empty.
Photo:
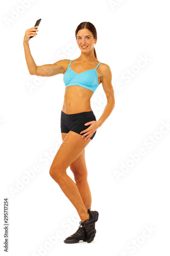
[[[61,133],[68,133],[69,131],[73,131],[80,134],[82,131],[86,130],[90,126],[90,124],[84,125],[85,123],[90,121],[96,121],[93,111],[80,112],[76,114],[65,114],[63,111],[61,111]],[[81,133],[81,135],[83,134],[84,133]],[[94,138],[95,134],[96,131],[90,137],[91,140]]]

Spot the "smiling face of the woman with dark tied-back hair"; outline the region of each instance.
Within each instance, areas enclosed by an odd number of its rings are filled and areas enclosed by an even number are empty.
[[[82,52],[89,52],[94,47],[94,39],[92,33],[88,29],[81,29],[77,33],[77,44]],[[84,48],[82,46],[85,46]]]

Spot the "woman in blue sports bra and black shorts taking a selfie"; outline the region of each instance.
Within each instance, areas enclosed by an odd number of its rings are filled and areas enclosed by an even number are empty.
[[[95,222],[99,212],[90,210],[91,193],[87,182],[85,147],[114,109],[112,74],[109,66],[99,62],[96,57],[94,44],[97,41],[97,33],[90,22],[82,22],[76,29],[76,40],[81,50],[77,59],[63,59],[54,64],[36,66],[30,52],[29,40],[30,36],[37,35],[37,27],[28,29],[23,39],[30,74],[64,74],[65,95],[60,120],[63,142],[50,167],[50,175],[75,206],[81,219],[78,230],[66,238],[64,243],[78,243],[80,240],[90,243],[95,237]],[[107,97],[107,105],[101,118],[96,121],[90,98],[100,83]],[[68,166],[76,183],[66,174]]]

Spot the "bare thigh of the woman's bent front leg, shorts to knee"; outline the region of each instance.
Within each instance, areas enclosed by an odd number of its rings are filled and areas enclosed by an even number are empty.
[[[61,171],[66,170],[81,155],[84,148],[91,141],[90,139],[83,140],[80,134],[73,131],[63,135],[63,138],[64,140],[51,165],[51,168],[60,169]]]

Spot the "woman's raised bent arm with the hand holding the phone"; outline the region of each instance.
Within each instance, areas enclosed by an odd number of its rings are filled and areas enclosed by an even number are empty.
[[[59,60],[55,62],[54,64],[46,64],[42,66],[37,66],[30,51],[29,47],[29,40],[30,36],[36,36],[37,27],[33,27],[31,29],[27,29],[25,33],[25,37],[23,39],[23,48],[25,51],[25,57],[26,57],[26,62],[27,62],[27,67],[30,72],[30,75],[37,75],[37,76],[54,76],[57,74],[63,74],[64,73],[64,68],[63,68],[63,63],[64,60]],[[34,32],[34,31],[36,32]]]

